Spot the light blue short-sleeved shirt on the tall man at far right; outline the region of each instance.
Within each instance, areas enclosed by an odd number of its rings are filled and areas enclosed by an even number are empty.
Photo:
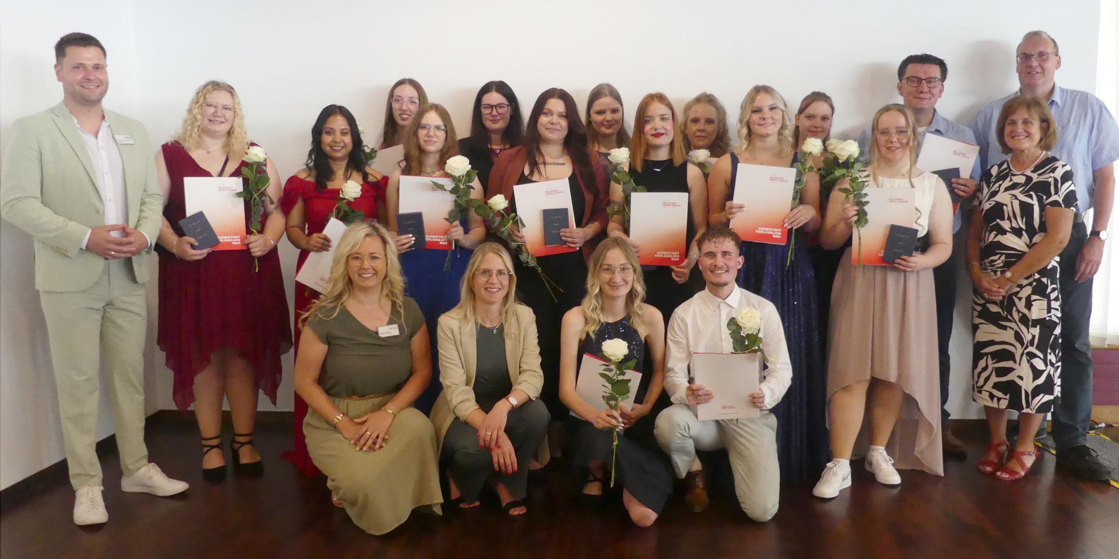
[[[979,138],[979,159],[984,169],[1010,157],[998,145],[995,126],[1003,104],[1019,92],[988,103],[971,121],[971,130]],[[1056,146],[1050,153],[1072,168],[1078,211],[1083,214],[1092,208],[1096,195],[1092,172],[1119,160],[1119,127],[1107,105],[1088,92],[1054,86],[1049,107],[1056,119]]]

